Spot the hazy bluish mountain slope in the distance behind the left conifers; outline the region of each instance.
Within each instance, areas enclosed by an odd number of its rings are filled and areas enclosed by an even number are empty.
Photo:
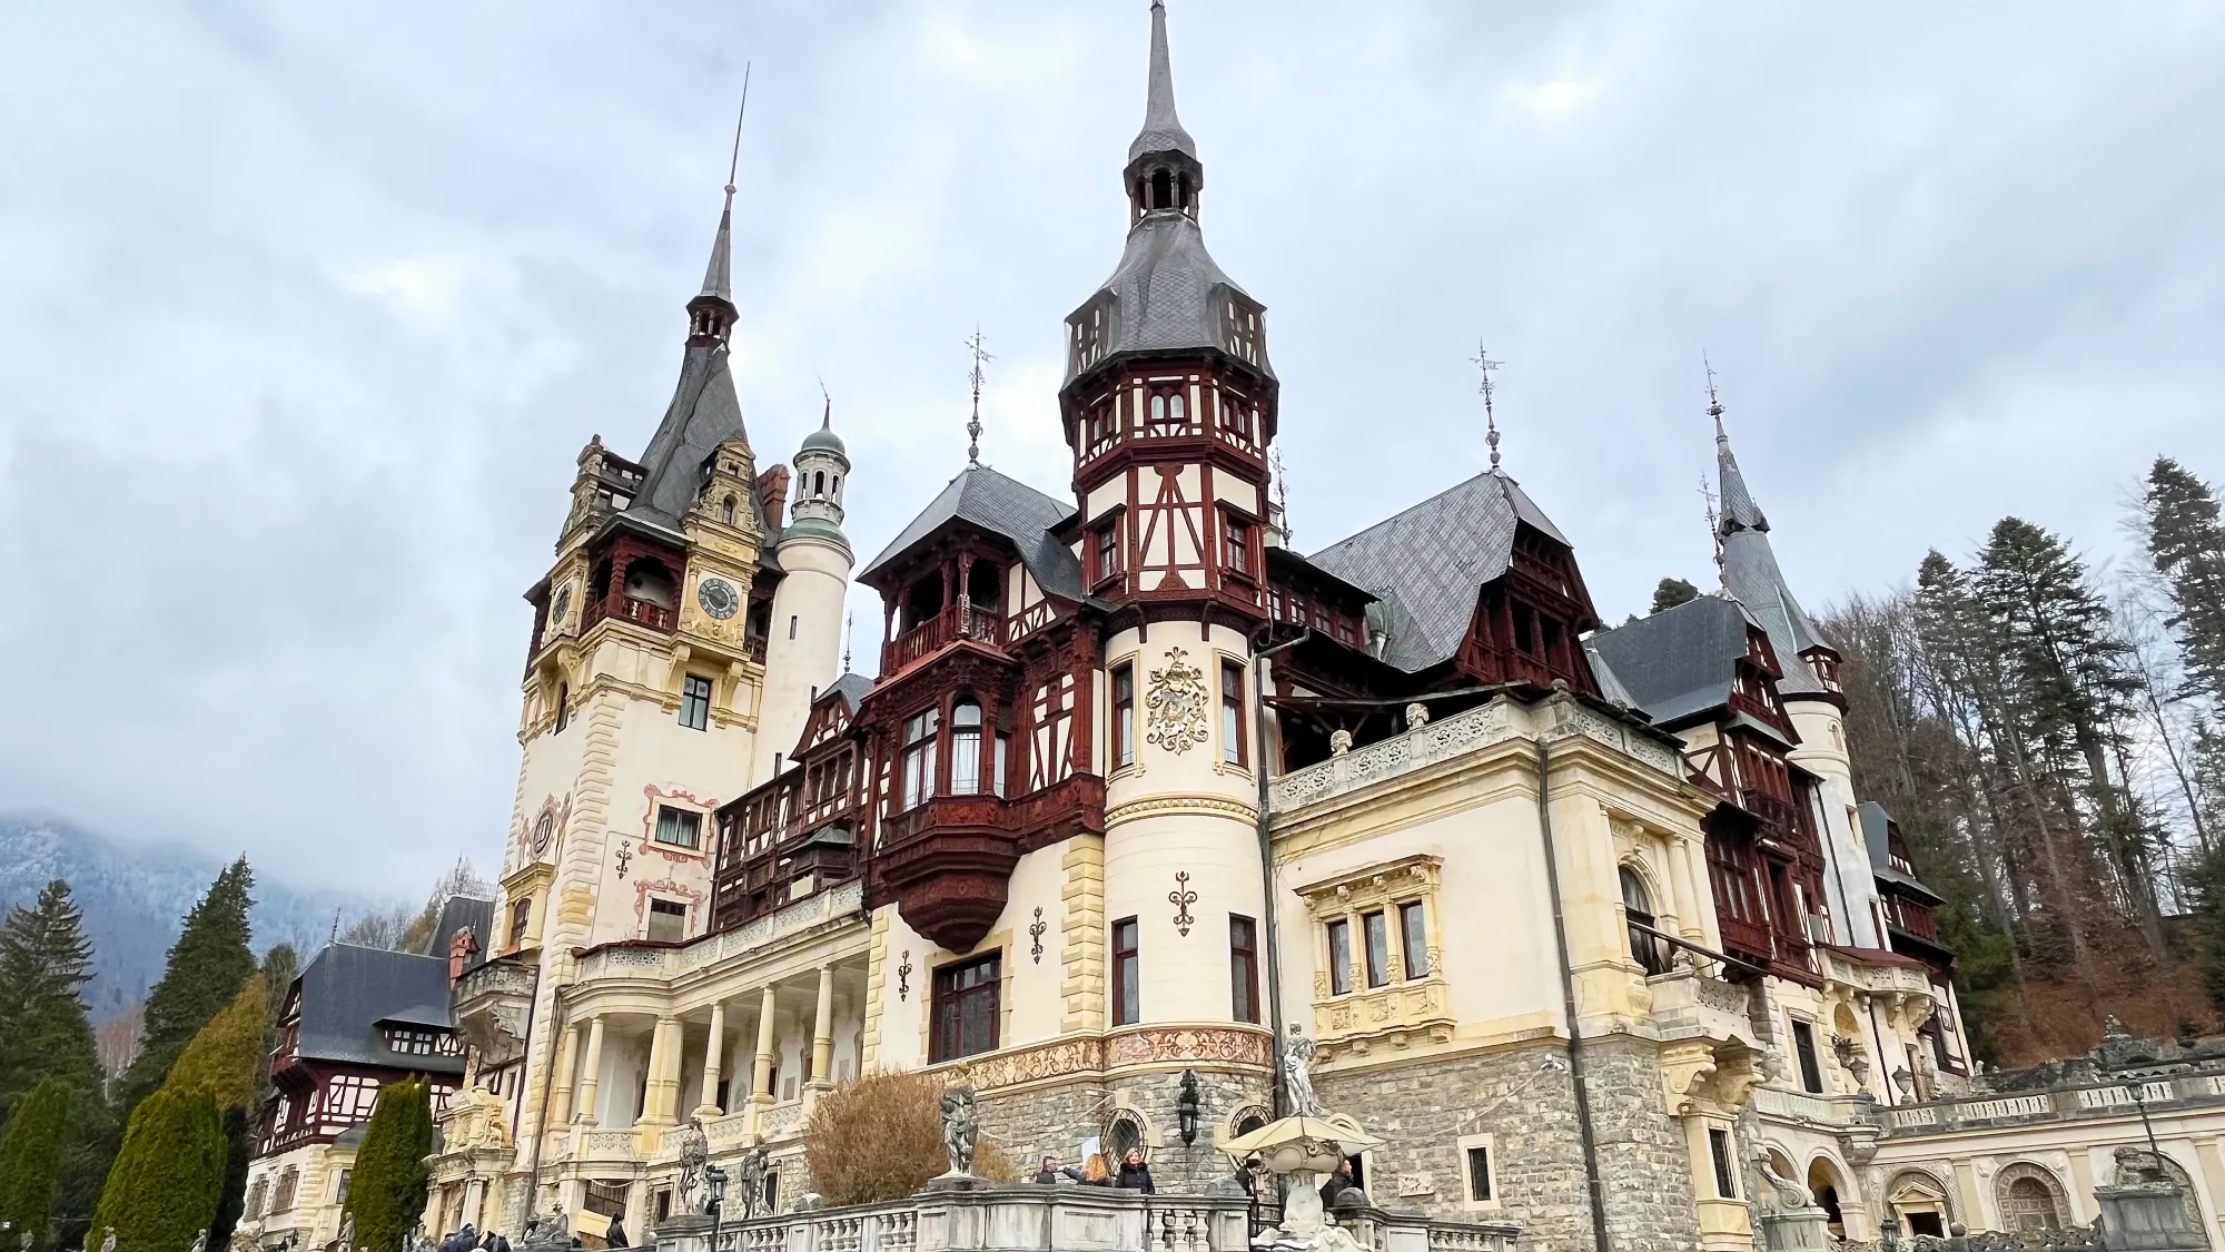
[[[0,913],[31,902],[53,878],[69,880],[93,938],[93,982],[85,987],[93,1020],[138,1000],[162,976],[162,953],[185,911],[222,864],[176,847],[120,847],[44,813],[0,813]],[[260,876],[254,896],[256,951],[291,942],[305,960],[332,933],[334,911],[354,918],[380,904],[345,891],[294,891]]]

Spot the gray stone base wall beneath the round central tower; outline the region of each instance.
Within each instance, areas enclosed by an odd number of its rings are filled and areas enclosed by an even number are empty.
[[[1153,1185],[1161,1192],[1202,1192],[1206,1183],[1228,1176],[1228,1158],[1213,1150],[1215,1129],[1237,1109],[1270,1107],[1273,1096],[1266,1076],[1208,1069],[1195,1074],[1199,1118],[1197,1141],[1190,1145],[1177,1134],[1179,1069],[1028,1092],[988,1092],[981,1096],[981,1129],[1012,1158],[1021,1176],[1032,1176],[1046,1154],[1066,1165],[1081,1165],[1075,1152],[1084,1138],[1099,1136],[1110,1150],[1112,1121],[1124,1107],[1133,1107],[1141,1114]]]

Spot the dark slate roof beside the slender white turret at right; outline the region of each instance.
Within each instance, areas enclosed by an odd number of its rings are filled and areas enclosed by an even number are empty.
[[[1738,657],[1747,655],[1747,610],[1720,595],[1702,595],[1584,639],[1584,651],[1606,662],[1624,700],[1655,724],[1669,726],[1731,700]],[[1600,666],[1593,666],[1600,675]],[[1606,677],[1602,677],[1602,691]]]

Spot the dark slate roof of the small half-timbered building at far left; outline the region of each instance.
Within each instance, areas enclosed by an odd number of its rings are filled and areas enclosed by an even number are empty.
[[[463,1056],[398,1054],[378,1023],[454,1027],[447,958],[345,942],[325,945],[300,971],[300,1056],[463,1074]],[[432,1020],[427,1020],[432,1018]]]

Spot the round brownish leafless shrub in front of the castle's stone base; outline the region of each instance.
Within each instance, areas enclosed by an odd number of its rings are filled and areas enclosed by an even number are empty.
[[[830,1205],[899,1201],[950,1170],[943,1150],[943,1087],[934,1074],[868,1074],[819,1096],[803,1127],[803,1158]],[[1017,1183],[1019,1174],[983,1134],[975,1174]]]

